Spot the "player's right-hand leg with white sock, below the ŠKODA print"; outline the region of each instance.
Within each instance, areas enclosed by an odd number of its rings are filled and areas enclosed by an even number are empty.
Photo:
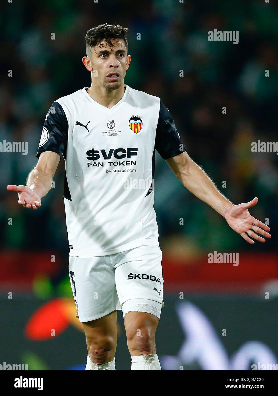
[[[147,312],[130,311],[125,314],[131,370],[161,370],[155,350],[155,331],[158,322],[157,316]]]

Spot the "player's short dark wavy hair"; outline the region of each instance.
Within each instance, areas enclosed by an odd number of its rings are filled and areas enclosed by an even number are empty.
[[[104,47],[104,42],[106,42],[111,48],[113,46],[111,40],[122,39],[127,48],[127,31],[128,29],[123,28],[121,25],[109,25],[108,23],[93,27],[88,30],[85,36],[86,54],[88,55],[91,52],[91,48],[96,46],[99,46],[100,48]]]

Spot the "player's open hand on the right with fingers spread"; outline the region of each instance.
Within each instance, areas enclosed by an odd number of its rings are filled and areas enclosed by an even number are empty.
[[[265,242],[265,238],[271,238],[271,235],[266,231],[270,231],[270,228],[259,220],[256,220],[250,215],[248,209],[255,206],[258,202],[258,198],[255,197],[252,201],[246,204],[239,204],[232,206],[225,215],[225,219],[228,225],[238,232],[249,244],[255,242],[249,238],[256,239],[259,242]],[[255,234],[263,235],[265,238]],[[249,235],[249,236],[248,236]]]

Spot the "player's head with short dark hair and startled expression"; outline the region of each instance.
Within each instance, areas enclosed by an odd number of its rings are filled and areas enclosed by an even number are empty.
[[[104,23],[88,30],[85,36],[87,56],[82,61],[92,72],[92,81],[108,90],[120,88],[130,64],[127,30],[121,25]],[[112,73],[117,77],[111,77]]]

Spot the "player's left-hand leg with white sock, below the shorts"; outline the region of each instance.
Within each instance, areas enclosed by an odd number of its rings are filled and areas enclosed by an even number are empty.
[[[117,311],[82,325],[88,350],[86,370],[115,370]]]

